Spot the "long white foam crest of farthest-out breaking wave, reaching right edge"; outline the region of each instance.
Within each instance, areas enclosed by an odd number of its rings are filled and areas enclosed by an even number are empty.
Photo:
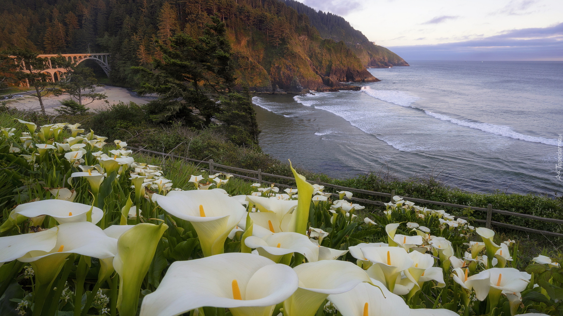
[[[499,136],[510,137],[514,139],[521,139],[522,141],[527,142],[534,142],[534,143],[544,143],[546,145],[557,146],[557,139],[551,138],[544,138],[544,137],[534,137],[525,134],[520,134],[512,130],[512,128],[504,125],[494,125],[489,123],[481,123],[481,122],[474,122],[474,121],[467,121],[467,120],[459,120],[450,118],[444,114],[439,114],[431,111],[427,111],[421,109],[419,107],[412,106],[412,103],[419,100],[419,98],[411,96],[410,94],[403,92],[403,91],[396,91],[396,90],[375,90],[370,87],[362,87],[361,91],[368,94],[368,96],[377,98],[382,101],[394,103],[396,105],[405,106],[405,107],[412,107],[413,109],[422,110],[427,115],[432,116],[433,118],[449,121],[450,123],[461,125],[464,127],[469,127],[473,129],[479,129],[486,133],[491,133]],[[395,147],[395,146],[393,146]],[[397,148],[397,147],[395,147]],[[397,148],[399,149],[399,148]]]

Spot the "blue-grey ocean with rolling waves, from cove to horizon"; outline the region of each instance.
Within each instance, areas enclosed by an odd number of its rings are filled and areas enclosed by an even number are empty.
[[[563,62],[409,64],[369,69],[382,81],[360,91],[253,97],[262,150],[336,178],[563,194]]]

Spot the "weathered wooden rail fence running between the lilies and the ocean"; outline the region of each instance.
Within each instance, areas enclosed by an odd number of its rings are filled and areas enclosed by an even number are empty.
[[[208,161],[204,161],[204,160],[197,160],[197,159],[192,159],[192,158],[188,158],[188,157],[178,156],[178,155],[175,155],[173,153],[166,154],[164,152],[147,150],[147,149],[144,149],[144,148],[136,148],[136,147],[131,147],[131,146],[127,146],[127,148],[129,148],[131,150],[136,150],[136,151],[149,152],[151,154],[156,154],[156,155],[160,155],[160,156],[163,156],[163,157],[178,158],[178,159],[183,159],[183,160],[187,160],[187,161],[198,162],[199,164],[206,164],[206,165],[208,165],[208,168],[201,168],[201,169],[202,170],[208,170],[209,173],[215,172],[216,171],[215,168],[222,168],[222,169],[234,170],[234,171],[239,171],[239,172],[248,173],[248,174],[255,174],[256,178],[248,177],[247,175],[229,173],[229,174],[234,175],[235,177],[245,179],[245,180],[257,181],[258,183],[274,184],[274,182],[268,182],[268,181],[262,180],[262,177],[270,177],[270,178],[278,178],[278,179],[294,181],[294,178],[292,178],[292,177],[285,177],[284,175],[265,173],[265,172],[262,172],[262,170],[260,170],[260,169],[250,170],[250,169],[236,168],[236,167],[216,164],[215,162],[213,162],[213,159],[209,159]],[[361,193],[361,194],[365,194],[365,195],[383,196],[383,197],[389,197],[389,198],[395,196],[395,190],[391,191],[391,193],[385,193],[385,192],[376,192],[376,191],[369,191],[369,190],[364,190],[364,189],[337,186],[336,184],[321,182],[320,179],[316,179],[316,181],[313,181],[313,180],[307,180],[307,181],[310,182],[310,183],[316,183],[316,184],[319,184],[319,185],[325,186],[325,187],[331,187],[331,188],[339,189],[339,190],[342,190],[342,191],[350,191],[350,192]],[[285,187],[285,188],[296,188],[294,186],[288,186],[286,184],[280,184],[280,183],[275,183],[275,184],[276,184],[276,186]],[[336,193],[332,193],[332,195],[338,196]],[[539,229],[533,229],[533,228],[522,227],[522,226],[518,226],[518,225],[495,222],[495,221],[491,220],[491,216],[492,216],[493,213],[496,213],[496,214],[501,214],[501,215],[515,216],[515,217],[519,217],[519,218],[533,219],[533,220],[539,220],[540,222],[556,223],[556,224],[563,224],[562,219],[546,218],[546,217],[541,217],[541,216],[516,213],[516,212],[512,212],[512,211],[497,210],[497,209],[493,209],[491,204],[489,204],[488,207],[485,208],[485,207],[476,207],[476,206],[461,205],[461,204],[452,204],[452,203],[446,203],[446,202],[440,202],[440,201],[431,201],[431,200],[425,200],[423,198],[414,198],[414,197],[408,197],[408,196],[399,196],[399,197],[407,199],[407,200],[412,201],[412,202],[418,202],[418,203],[422,203],[422,204],[434,204],[434,205],[441,205],[441,206],[457,207],[457,208],[461,208],[461,209],[469,208],[469,209],[476,210],[476,211],[484,211],[484,212],[486,212],[486,220],[483,220],[483,219],[472,219],[472,220],[477,222],[477,223],[485,223],[485,226],[487,228],[490,228],[491,225],[495,225],[495,226],[498,226],[498,227],[516,229],[518,231],[523,231],[523,232],[542,234],[544,236],[563,237],[563,234],[561,234],[561,233],[540,231]],[[365,203],[365,204],[372,204],[372,205],[378,205],[378,206],[383,205],[383,202],[381,202],[381,201],[367,200],[365,198],[352,197],[351,200],[362,202],[362,203]],[[456,216],[456,217],[467,219],[466,217],[463,217],[463,216]]]

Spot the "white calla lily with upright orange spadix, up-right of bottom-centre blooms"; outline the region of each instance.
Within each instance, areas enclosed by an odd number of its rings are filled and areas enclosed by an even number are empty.
[[[361,252],[365,259],[373,263],[372,267],[368,269],[370,277],[383,274],[390,291],[395,288],[397,276],[412,267],[414,263],[408,252],[400,247],[363,247]]]

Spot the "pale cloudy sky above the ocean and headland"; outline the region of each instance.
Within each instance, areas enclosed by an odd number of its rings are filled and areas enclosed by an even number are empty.
[[[405,60],[563,61],[563,0],[299,0]]]

